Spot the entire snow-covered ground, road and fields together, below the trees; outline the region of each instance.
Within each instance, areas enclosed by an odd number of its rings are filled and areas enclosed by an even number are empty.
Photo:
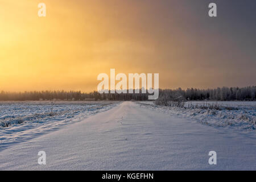
[[[0,170],[256,170],[254,106],[1,102]]]

